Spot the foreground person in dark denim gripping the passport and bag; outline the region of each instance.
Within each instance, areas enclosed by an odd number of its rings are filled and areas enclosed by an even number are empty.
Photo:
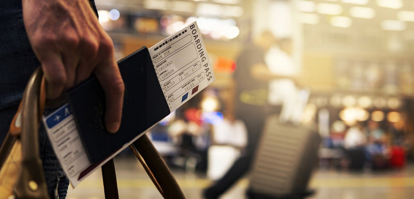
[[[0,143],[39,66],[49,100],[95,74],[106,95],[106,129],[118,131],[124,85],[113,42],[98,22],[94,1],[2,0],[0,7]],[[64,199],[69,181],[43,127],[39,141],[49,195]]]

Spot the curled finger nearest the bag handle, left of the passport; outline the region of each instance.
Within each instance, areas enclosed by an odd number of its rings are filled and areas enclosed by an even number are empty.
[[[39,55],[39,58],[46,76],[47,98],[55,99],[65,88],[66,70],[60,55],[50,52],[45,52],[45,54],[47,56]]]

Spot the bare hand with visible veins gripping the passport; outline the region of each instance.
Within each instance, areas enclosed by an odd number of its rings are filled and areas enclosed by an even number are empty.
[[[105,124],[119,129],[124,84],[113,42],[88,0],[22,0],[29,41],[46,75],[48,98],[79,84],[92,73],[106,96]]]

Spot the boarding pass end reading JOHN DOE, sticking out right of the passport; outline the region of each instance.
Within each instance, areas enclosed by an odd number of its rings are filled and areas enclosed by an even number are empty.
[[[197,22],[149,48],[149,54],[171,112],[216,79]]]

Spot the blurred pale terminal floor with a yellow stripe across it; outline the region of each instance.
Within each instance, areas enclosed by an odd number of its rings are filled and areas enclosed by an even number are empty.
[[[121,199],[162,199],[142,166],[134,158],[115,159],[118,188]],[[188,199],[202,199],[201,190],[211,182],[204,176],[183,171],[173,171]],[[221,199],[244,199],[248,187],[246,178],[240,180]],[[310,187],[316,194],[310,199],[413,199],[414,165],[402,170],[359,173],[318,170]],[[103,199],[101,170],[97,170],[68,190],[67,199]]]

